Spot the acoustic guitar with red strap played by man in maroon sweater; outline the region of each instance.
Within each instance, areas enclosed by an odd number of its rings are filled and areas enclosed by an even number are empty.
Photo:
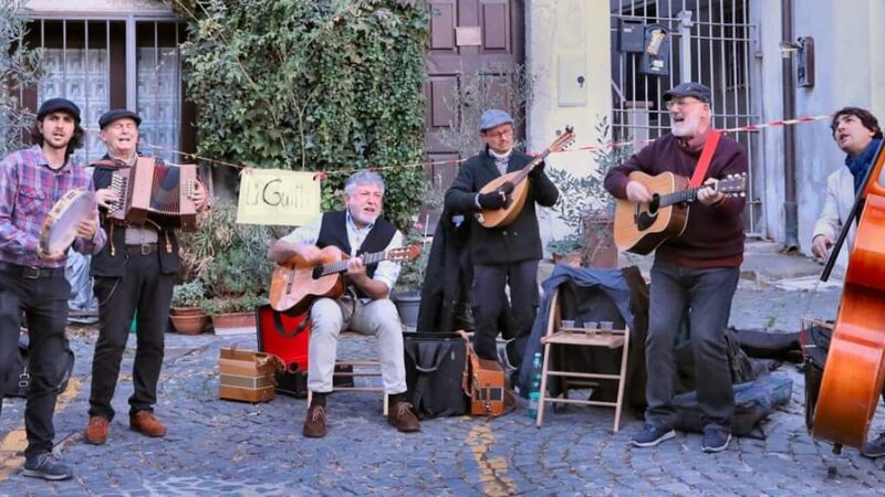
[[[633,171],[629,179],[638,181],[652,193],[648,203],[617,199],[615,205],[615,245],[622,251],[648,254],[671,236],[678,236],[688,223],[688,204],[698,198],[706,186],[688,188],[688,178],[673,172],[649,176]],[[747,173],[729,175],[714,187],[729,197],[743,197]]]

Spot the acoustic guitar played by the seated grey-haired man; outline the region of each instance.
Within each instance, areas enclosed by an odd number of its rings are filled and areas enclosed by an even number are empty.
[[[382,261],[412,261],[418,256],[418,244],[389,251],[363,254],[363,264],[377,264]],[[320,251],[319,264],[306,262],[295,255],[283,264],[278,264],[270,279],[268,300],[277,311],[302,314],[314,299],[320,297],[339,298],[344,294],[344,276],[347,271],[347,254],[336,246]]]

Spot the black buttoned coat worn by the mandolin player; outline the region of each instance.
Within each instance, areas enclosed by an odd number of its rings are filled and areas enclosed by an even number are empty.
[[[522,169],[532,158],[525,154],[513,151],[507,172]],[[501,176],[494,167],[494,158],[488,149],[468,159],[458,171],[455,182],[446,192],[446,209],[456,212],[479,212],[476,195],[489,181]],[[503,228],[485,228],[467,215],[470,223],[470,252],[473,264],[493,265],[509,264],[543,257],[541,235],[538,230],[535,202],[551,207],[559,199],[556,186],[541,171],[537,178],[530,178],[529,197],[517,219]]]

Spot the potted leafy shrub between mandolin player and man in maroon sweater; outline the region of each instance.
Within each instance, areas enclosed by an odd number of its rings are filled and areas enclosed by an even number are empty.
[[[562,169],[550,168],[550,179],[560,190],[554,210],[569,228],[569,233],[551,240],[546,247],[554,263],[615,267],[617,248],[614,245],[615,200],[603,187],[605,175],[624,162],[631,147],[612,147],[611,126],[603,116],[596,125],[596,144],[592,157],[595,167],[590,175],[576,177]]]

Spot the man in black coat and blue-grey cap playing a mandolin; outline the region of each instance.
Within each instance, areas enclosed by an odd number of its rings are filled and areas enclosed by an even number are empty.
[[[475,214],[469,216],[468,244],[473,263],[473,348],[483,359],[498,359],[499,315],[507,298],[504,288],[510,285],[514,329],[506,338],[514,340],[508,356],[511,364],[521,364],[538,310],[538,262],[543,256],[534,204],[553,205],[559,191],[544,173],[543,161],[513,149],[513,118],[506,112],[486,110],[479,118],[479,137],[486,148],[461,166],[446,192],[446,208]],[[522,178],[523,171],[528,177]],[[491,191],[481,191],[508,173],[514,173],[517,184],[504,181]],[[519,210],[501,215],[511,209]],[[486,225],[508,218],[512,218],[509,223]]]

